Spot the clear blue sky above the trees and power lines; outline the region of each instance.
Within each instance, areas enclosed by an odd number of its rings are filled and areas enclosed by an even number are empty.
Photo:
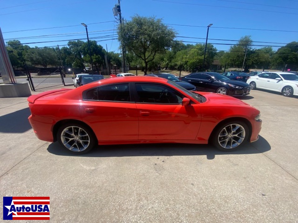
[[[86,38],[85,28],[81,25],[85,23],[88,25],[89,38],[101,40],[98,44],[105,49],[107,45],[108,51],[119,52],[119,42],[107,40],[116,38],[117,34],[118,23],[112,12],[116,3],[118,0],[0,0],[0,28],[5,41],[60,41],[28,45],[63,46],[67,40]],[[227,40],[238,40],[245,35],[251,35],[253,41],[276,42],[255,45],[284,46],[277,43],[298,41],[298,0],[122,0],[120,4],[122,16],[126,20],[138,14],[156,16],[163,19],[165,24],[172,24],[169,26],[176,30],[177,40],[203,43],[206,27],[212,23],[208,42],[219,43],[214,44],[218,50],[228,50],[229,45],[220,44],[233,44],[235,42]],[[14,32],[28,29],[38,30]],[[278,47],[273,49],[277,50]]]

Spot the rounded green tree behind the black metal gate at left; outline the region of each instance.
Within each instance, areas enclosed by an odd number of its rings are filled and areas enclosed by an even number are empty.
[[[33,66],[43,66],[47,68],[49,65],[59,65],[57,52],[53,48],[31,48],[25,55],[27,64]]]

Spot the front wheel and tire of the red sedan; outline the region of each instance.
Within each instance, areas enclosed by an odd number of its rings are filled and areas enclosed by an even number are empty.
[[[249,128],[245,122],[229,121],[216,127],[210,142],[221,151],[234,151],[247,142],[249,135]]]

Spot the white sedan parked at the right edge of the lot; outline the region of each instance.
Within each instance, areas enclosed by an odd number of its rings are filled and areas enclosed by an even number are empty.
[[[250,76],[246,83],[251,89],[277,91],[286,97],[298,95],[298,75],[290,72],[265,72]]]

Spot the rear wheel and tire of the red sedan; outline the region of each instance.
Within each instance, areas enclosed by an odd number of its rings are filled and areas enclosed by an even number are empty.
[[[81,134],[81,136],[79,136]],[[69,139],[69,141],[66,141]],[[61,125],[57,132],[57,141],[73,154],[89,152],[96,144],[96,137],[90,128],[79,123]]]

